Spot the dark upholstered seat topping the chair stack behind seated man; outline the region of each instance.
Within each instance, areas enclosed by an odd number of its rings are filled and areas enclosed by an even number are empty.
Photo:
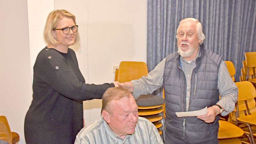
[[[142,107],[164,104],[164,98],[152,95],[150,93],[147,95],[140,95],[137,99],[135,99],[135,101],[138,106]]]

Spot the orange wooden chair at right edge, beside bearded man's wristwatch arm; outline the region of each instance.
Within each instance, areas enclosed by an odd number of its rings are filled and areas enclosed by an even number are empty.
[[[254,136],[256,136],[256,107],[255,96],[256,90],[251,82],[236,82],[238,87],[238,100],[235,105],[231,118],[235,124],[243,129],[245,134],[249,134],[254,144]],[[246,142],[245,142],[246,143]]]

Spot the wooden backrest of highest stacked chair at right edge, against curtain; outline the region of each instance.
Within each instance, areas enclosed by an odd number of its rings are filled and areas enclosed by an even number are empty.
[[[254,75],[256,78],[255,68],[256,68],[256,52],[245,53],[245,61],[248,70],[248,75]],[[249,70],[251,68],[252,70]],[[247,71],[245,73],[247,75]]]

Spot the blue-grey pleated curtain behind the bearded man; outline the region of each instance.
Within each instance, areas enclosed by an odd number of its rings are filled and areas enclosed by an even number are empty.
[[[244,53],[256,51],[255,0],[148,0],[147,4],[148,71],[177,51],[179,21],[194,17],[203,25],[204,48],[232,61],[239,81]],[[161,96],[162,89],[155,94]]]

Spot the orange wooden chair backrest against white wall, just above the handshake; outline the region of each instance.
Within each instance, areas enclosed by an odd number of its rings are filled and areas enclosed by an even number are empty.
[[[118,70],[117,81],[130,82],[148,74],[147,64],[138,61],[121,61]]]

